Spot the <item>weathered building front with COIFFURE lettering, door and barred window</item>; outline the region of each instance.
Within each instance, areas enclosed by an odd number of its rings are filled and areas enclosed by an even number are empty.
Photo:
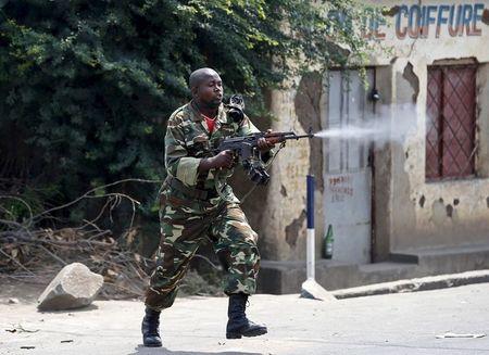
[[[268,187],[244,203],[261,234],[263,292],[299,292],[305,278],[308,174],[327,289],[489,267],[489,4],[375,4],[388,14],[364,33],[379,49],[363,77],[311,72],[272,93],[274,130],[350,127],[350,138],[288,143]],[[355,127],[391,138],[372,142]]]

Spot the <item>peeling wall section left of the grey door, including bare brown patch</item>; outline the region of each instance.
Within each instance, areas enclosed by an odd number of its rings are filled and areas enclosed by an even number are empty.
[[[306,84],[304,84],[306,83]],[[310,126],[319,129],[322,78],[311,75],[298,83],[298,90],[274,91],[272,111],[279,117],[274,130],[304,134]],[[296,110],[300,114],[297,114]],[[314,159],[314,160],[313,160]],[[299,261],[305,258],[305,176],[321,174],[321,142],[308,139],[289,141],[272,166],[266,191],[266,208],[262,211],[260,248],[267,259]],[[321,216],[321,182],[317,185],[316,215]],[[255,201],[258,202],[258,201]]]

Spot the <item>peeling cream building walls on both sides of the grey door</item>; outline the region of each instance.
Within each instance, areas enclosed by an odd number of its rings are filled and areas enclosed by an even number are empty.
[[[480,36],[452,37],[448,28],[431,24],[427,38],[399,39],[396,21],[399,7],[475,4],[481,1],[375,1],[391,8],[391,17],[377,34],[379,48],[371,64],[377,67],[377,88],[384,115],[393,127],[410,121],[406,138],[397,143],[378,144],[374,153],[374,261],[384,261],[392,252],[489,243],[489,7],[482,20],[471,30]],[[398,8],[396,8],[398,7]],[[405,9],[405,8],[404,8]],[[439,9],[439,8],[438,8]],[[432,9],[431,9],[432,10]],[[480,9],[479,9],[480,10]],[[444,9],[446,15],[449,10]],[[484,14],[484,15],[482,15]],[[406,20],[401,17],[401,25]],[[463,60],[480,63],[477,116],[477,177],[464,180],[425,182],[425,107],[427,67],[439,61]],[[271,109],[279,117],[275,130],[304,132],[321,130],[321,115],[327,107],[325,84],[319,74],[297,79],[296,88],[274,91]],[[411,122],[412,121],[412,122]],[[316,242],[324,233],[322,204],[323,152],[321,141],[289,142],[277,156],[268,188],[258,200],[265,201],[255,228],[261,233],[262,255],[275,261],[305,258],[305,175],[314,174],[316,189]],[[255,200],[254,200],[255,201]],[[319,256],[319,252],[317,252]]]

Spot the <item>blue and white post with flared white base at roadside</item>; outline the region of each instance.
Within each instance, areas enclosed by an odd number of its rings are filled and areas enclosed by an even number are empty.
[[[315,229],[314,229],[314,176],[306,177],[306,208],[308,208],[308,234],[306,234],[306,279],[302,283],[301,297],[333,301],[335,296],[316,282],[315,263]]]

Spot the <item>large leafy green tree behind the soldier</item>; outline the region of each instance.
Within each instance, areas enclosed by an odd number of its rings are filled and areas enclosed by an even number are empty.
[[[116,180],[161,179],[165,121],[189,99],[193,69],[214,67],[265,116],[266,89],[311,67],[362,63],[367,43],[351,18],[363,11],[353,0],[2,0],[4,189],[43,191],[35,204],[47,208]],[[156,189],[117,186],[153,220]],[[58,217],[90,218],[100,203]]]

